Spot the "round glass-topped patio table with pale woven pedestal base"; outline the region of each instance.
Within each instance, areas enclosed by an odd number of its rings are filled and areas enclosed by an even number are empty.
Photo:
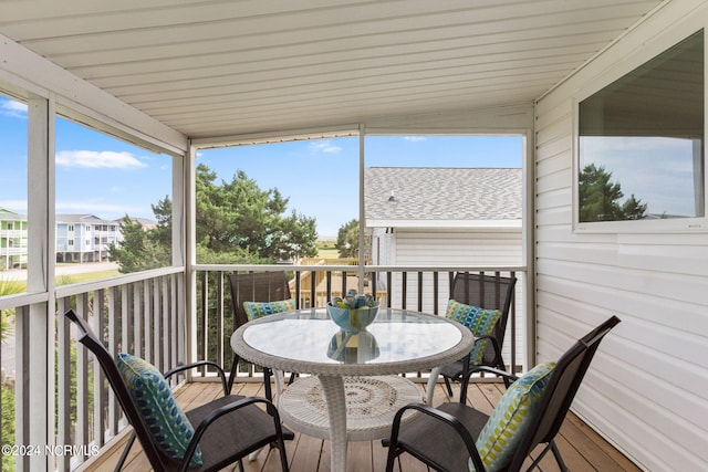
[[[249,322],[231,336],[231,348],[246,360],[277,370],[315,376],[298,380],[296,384],[304,380],[299,387],[289,387],[291,391],[282,397],[290,397],[290,403],[288,406],[279,398],[279,407],[284,407],[282,416],[287,424],[301,432],[317,436],[316,431],[323,430],[329,433],[332,471],[345,470],[347,440],[374,438],[357,437],[347,430],[347,396],[356,395],[362,385],[375,385],[377,391],[384,391],[384,395],[389,389],[394,397],[405,398],[409,381],[385,376],[448,364],[468,354],[473,343],[471,332],[459,323],[393,308],[381,308],[374,323],[357,334],[340,331],[325,308],[306,308]],[[353,380],[357,377],[375,378]],[[353,385],[354,388],[351,388]],[[299,409],[293,397],[302,396],[304,401],[317,389],[321,389],[321,398],[326,403],[324,408],[329,424],[324,428],[303,428],[310,424],[303,416],[311,415],[312,409]],[[364,395],[368,394],[365,391]],[[392,401],[391,407],[389,418],[393,418],[393,408],[397,410],[398,405]],[[389,427],[389,423],[385,427]],[[374,436],[379,433],[375,432]]]

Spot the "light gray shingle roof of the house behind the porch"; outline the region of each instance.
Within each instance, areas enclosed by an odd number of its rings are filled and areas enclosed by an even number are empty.
[[[367,220],[521,219],[521,169],[371,167],[364,181]]]

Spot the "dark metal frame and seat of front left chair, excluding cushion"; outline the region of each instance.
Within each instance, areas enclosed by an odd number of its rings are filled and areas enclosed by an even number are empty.
[[[285,472],[289,470],[283,429],[275,406],[264,398],[228,395],[223,370],[215,363],[206,360],[178,366],[165,374],[165,378],[169,378],[177,373],[209,365],[219,373],[225,394],[219,399],[186,412],[189,422],[195,428],[195,433],[181,462],[178,463],[176,460],[168,458],[154,442],[147,424],[118,371],[115,360],[103,343],[95,336],[86,321],[77,316],[72,310],[66,312],[65,316],[77,326],[80,332],[79,342],[96,356],[128,422],[134,429],[134,433],[115,468],[116,471],[123,468],[136,438],[155,471],[217,471],[238,461],[242,472],[242,458],[269,444],[279,449],[282,470]],[[204,464],[199,468],[190,468],[189,462],[197,447],[201,449]]]

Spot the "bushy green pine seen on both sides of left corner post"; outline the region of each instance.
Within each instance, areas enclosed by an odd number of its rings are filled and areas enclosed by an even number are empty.
[[[296,211],[287,214],[288,199],[278,189],[261,190],[239,170],[231,181],[215,183],[216,172],[197,166],[197,256],[200,263],[273,263],[314,256],[315,219]],[[121,272],[156,269],[171,263],[171,212],[169,197],[153,204],[155,229],[145,231],[126,216],[123,241],[110,248],[111,261]]]

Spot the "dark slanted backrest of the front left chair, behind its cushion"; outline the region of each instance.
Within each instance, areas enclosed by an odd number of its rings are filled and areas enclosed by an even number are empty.
[[[123,381],[123,377],[118,371],[113,356],[111,356],[111,353],[108,353],[103,343],[96,337],[84,318],[76,315],[73,310],[67,311],[64,316],[71,319],[79,328],[79,342],[86,346],[86,348],[96,356],[96,359],[98,359],[98,364],[101,364],[101,368],[108,379],[108,384],[111,384],[111,388],[118,399],[118,403],[121,403],[128,422],[133,426],[135,434],[145,451],[145,455],[147,455],[147,459],[150,461],[150,465],[153,465],[153,469],[156,471],[165,470],[168,460],[159,452],[157,445],[153,442],[143,417],[133,402],[131,394],[128,394],[128,389],[125,381]]]

